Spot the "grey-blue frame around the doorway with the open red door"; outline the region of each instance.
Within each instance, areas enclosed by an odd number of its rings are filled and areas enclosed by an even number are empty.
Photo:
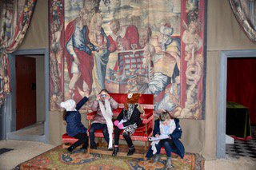
[[[46,121],[44,125],[44,136],[15,136],[12,132],[16,131],[16,73],[15,73],[15,57],[17,55],[43,55],[44,57],[44,69],[45,69],[45,89],[46,89]],[[5,139],[14,140],[35,140],[49,143],[49,49],[19,49],[14,53],[8,54],[9,65],[10,65],[10,88],[11,92],[6,97],[4,105],[4,119],[5,119]]]

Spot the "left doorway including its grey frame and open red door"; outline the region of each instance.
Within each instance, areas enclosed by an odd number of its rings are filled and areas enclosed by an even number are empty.
[[[48,49],[24,49],[9,55],[6,139],[49,141]]]

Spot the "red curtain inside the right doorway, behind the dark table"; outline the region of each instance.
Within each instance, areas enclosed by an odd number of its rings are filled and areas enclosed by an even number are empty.
[[[256,57],[228,58],[226,100],[246,106],[256,125]]]

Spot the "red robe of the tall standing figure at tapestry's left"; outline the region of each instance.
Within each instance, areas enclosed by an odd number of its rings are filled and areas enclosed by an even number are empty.
[[[72,38],[72,35],[74,34],[74,30],[75,30],[75,20],[70,22],[66,26],[65,45],[67,42],[69,42],[70,38]],[[86,45],[89,45],[90,43],[90,39],[88,35],[89,35],[89,29],[86,26],[86,34],[84,35],[84,37],[86,38]],[[77,57],[79,59],[80,64],[78,66],[81,72],[81,77],[79,77],[75,87],[79,87],[80,89],[82,89],[83,81],[86,81],[86,84],[89,86],[89,89],[90,89],[89,93],[91,93],[92,83],[93,83],[92,69],[94,68],[94,54],[86,53],[85,51],[79,50],[75,47],[74,47],[74,52],[77,54]],[[74,60],[74,57],[70,55],[66,47],[65,47],[65,53],[66,53],[65,56],[66,56],[67,69],[71,79],[72,78],[71,65],[72,65],[72,61]],[[81,95],[78,93],[77,88],[75,88],[74,90],[73,98],[74,98],[74,101],[79,101],[82,98]]]

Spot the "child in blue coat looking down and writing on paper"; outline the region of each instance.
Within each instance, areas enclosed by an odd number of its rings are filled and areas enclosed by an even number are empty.
[[[153,162],[160,160],[160,151],[164,147],[166,150],[166,168],[172,168],[171,165],[171,152],[178,154],[183,158],[184,146],[179,140],[182,136],[182,128],[179,125],[179,120],[170,115],[168,111],[162,111],[158,120],[154,121],[154,137],[161,137],[162,140],[154,140],[146,153],[146,157],[150,159],[154,156]],[[162,136],[166,136],[162,137]],[[163,139],[165,138],[165,139]]]

